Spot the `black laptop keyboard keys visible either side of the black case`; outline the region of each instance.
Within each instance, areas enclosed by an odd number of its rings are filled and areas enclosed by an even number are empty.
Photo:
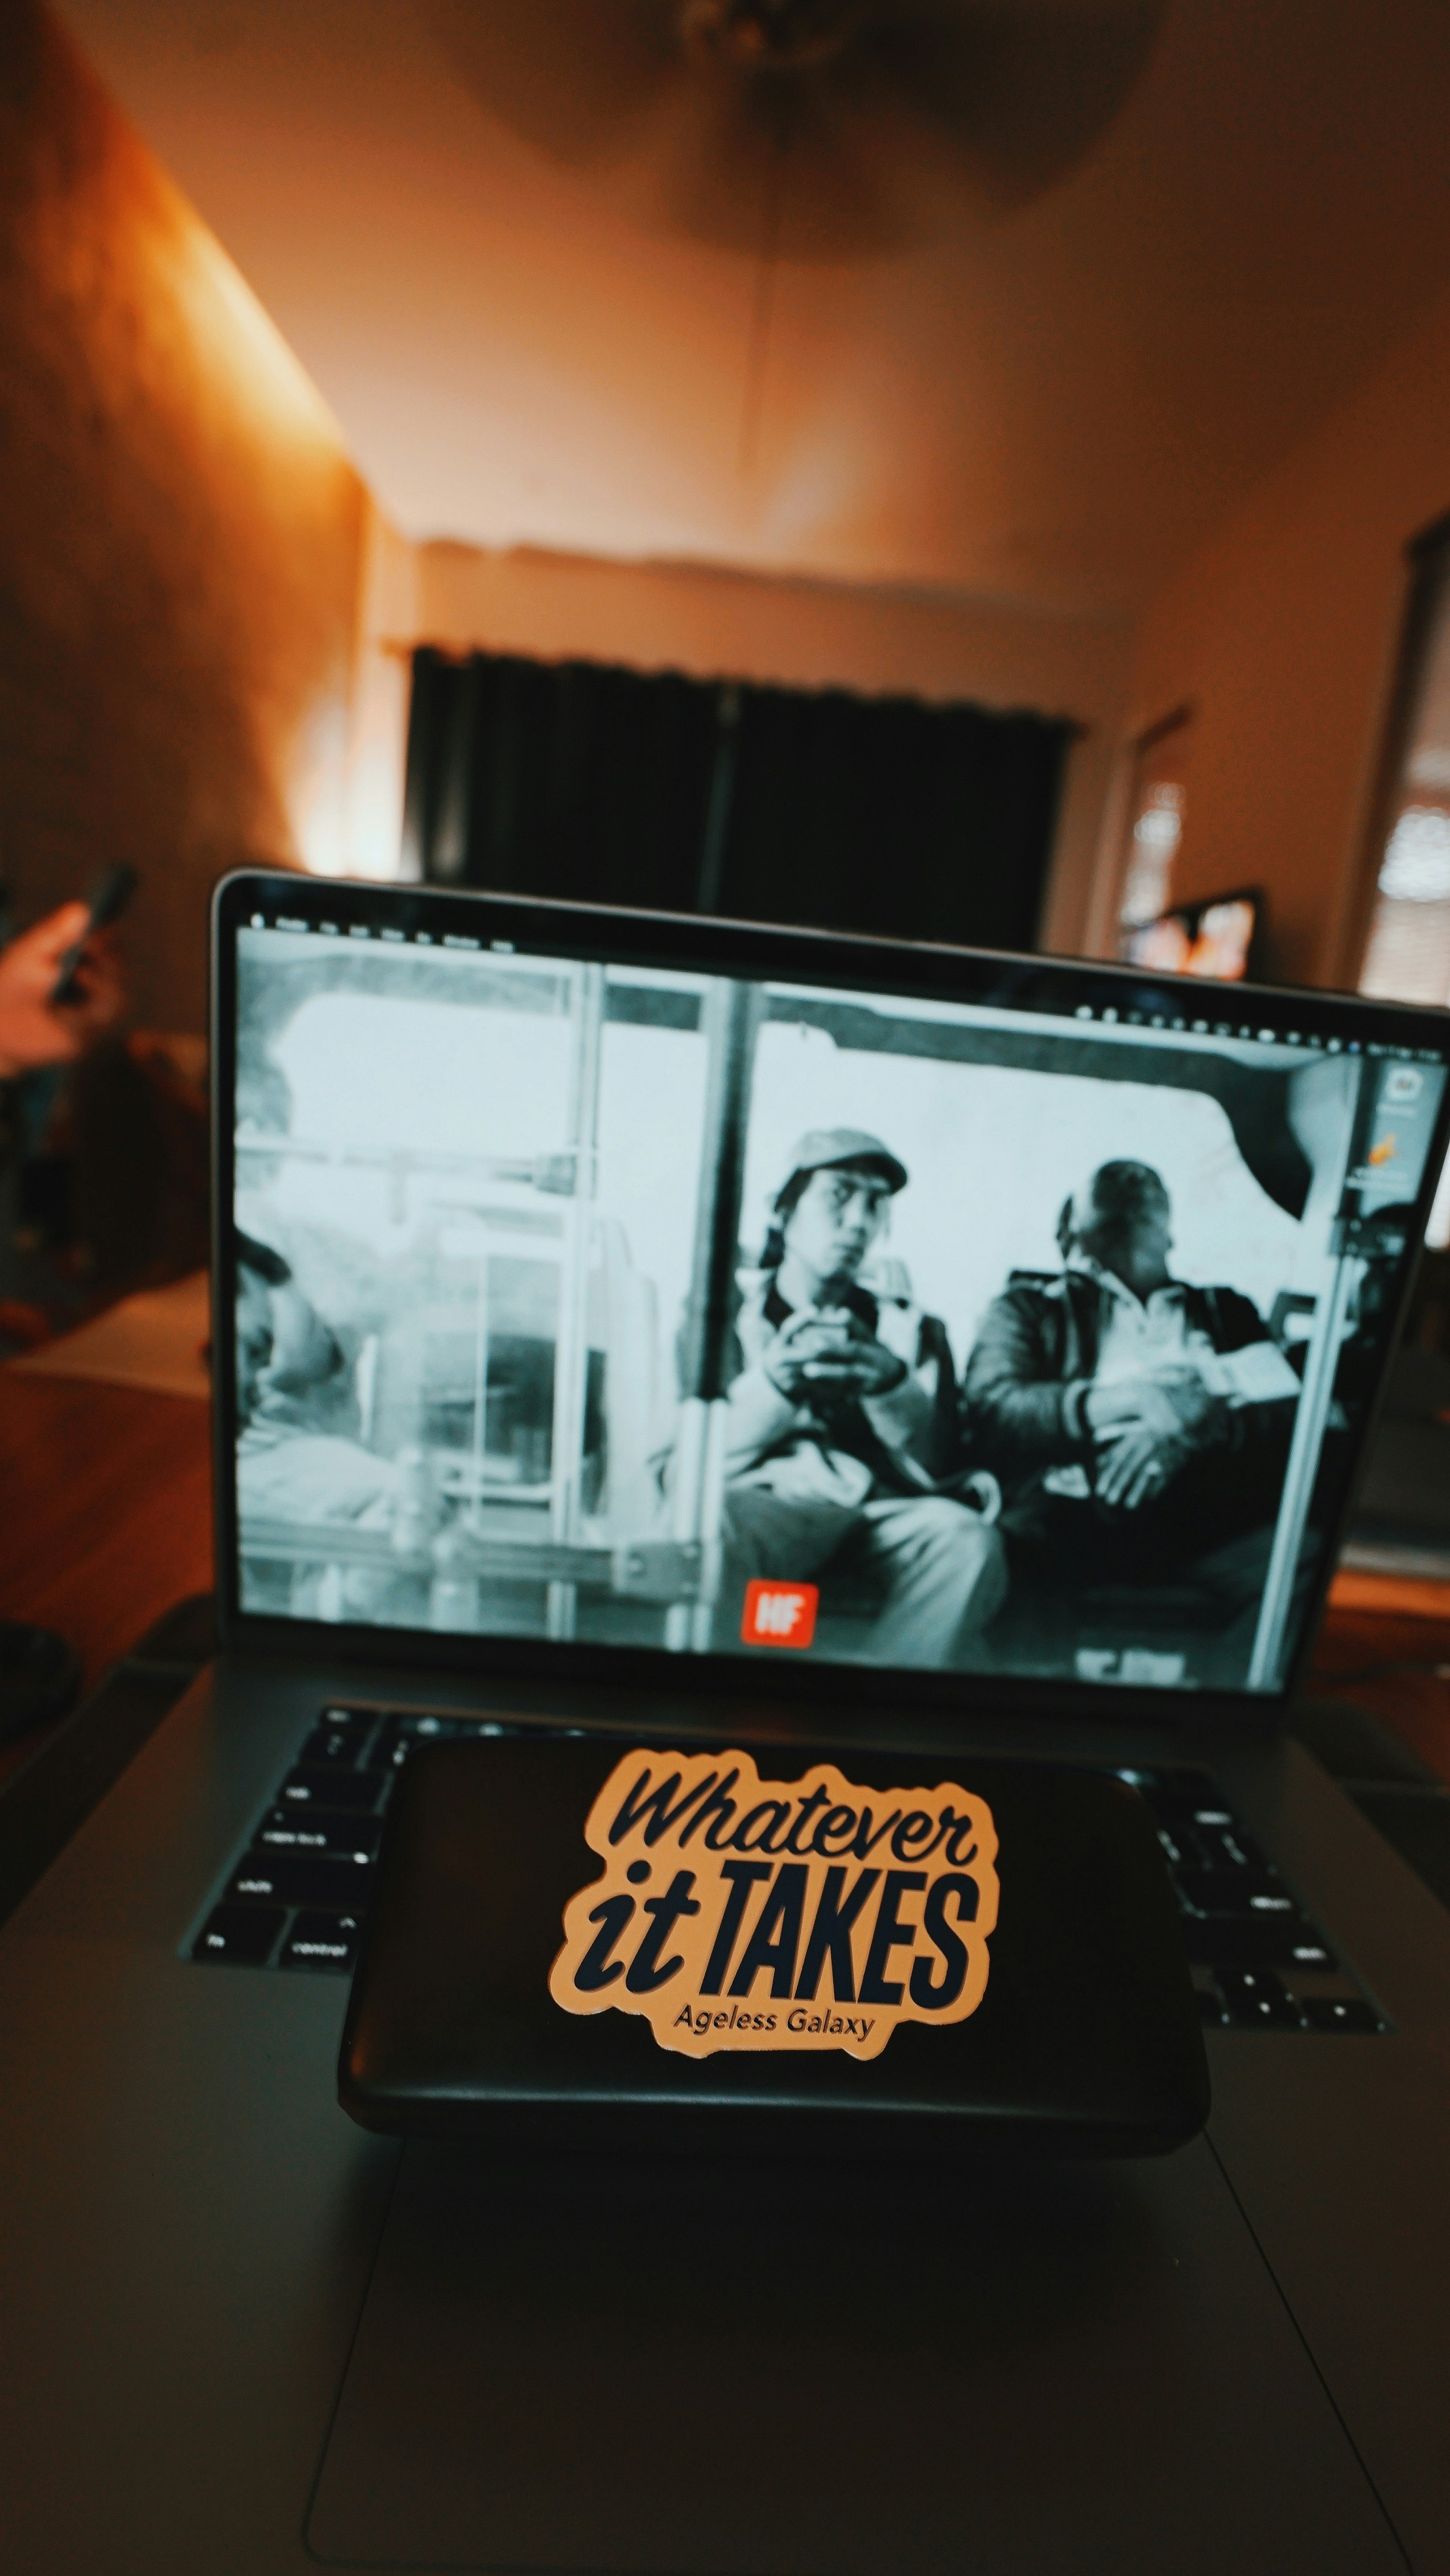
[[[451,1736],[515,1731],[479,1718],[325,1708],[188,1940],[188,1958],[306,1976],[348,1973],[386,1806],[410,1752]],[[1210,2027],[1388,2027],[1208,1772],[1123,1770],[1120,1777],[1154,1814]]]

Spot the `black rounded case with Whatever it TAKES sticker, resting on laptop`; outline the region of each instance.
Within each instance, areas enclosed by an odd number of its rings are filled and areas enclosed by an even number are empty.
[[[410,1759],[337,2092],[489,2143],[1146,2156],[1208,2063],[1115,1777],[515,1736]]]

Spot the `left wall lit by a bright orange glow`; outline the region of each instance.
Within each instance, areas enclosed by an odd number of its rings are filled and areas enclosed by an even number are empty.
[[[31,0],[0,0],[0,876],[28,920],[134,860],[137,1015],[201,1028],[211,881],[340,866],[376,801],[402,708],[373,652],[389,536],[268,317]],[[353,840],[376,863],[376,824]]]

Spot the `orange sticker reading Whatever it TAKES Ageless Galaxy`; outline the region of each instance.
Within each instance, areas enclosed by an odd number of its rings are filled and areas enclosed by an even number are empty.
[[[564,1906],[549,1994],[641,2012],[662,2048],[845,2048],[963,2022],[986,1994],[997,1826],[984,1798],[855,1788],[834,1762],[634,1752],[595,1798],[603,1878]]]

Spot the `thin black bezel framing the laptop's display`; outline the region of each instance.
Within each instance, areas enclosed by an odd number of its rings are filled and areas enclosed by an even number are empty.
[[[330,922],[337,935],[350,925],[376,920],[386,907],[399,927],[415,927],[420,909],[443,922],[456,912],[466,922],[466,935],[510,940],[520,953],[564,958],[608,958],[628,963],[672,966],[690,974],[737,974],[755,981],[801,981],[865,987],[901,994],[935,994],[963,999],[961,984],[992,981],[994,999],[1033,992],[1038,997],[1061,992],[1074,1005],[1089,1002],[1095,1010],[1118,1002],[1125,987],[1154,994],[1159,1007],[1177,1002],[1182,1010],[1185,987],[1151,974],[1151,969],[1097,963],[1084,958],[1022,956],[1012,951],[953,948],[945,943],[878,940],[858,933],[809,930],[791,925],[734,922],[677,912],[641,912],[605,904],[572,904],[533,894],[494,894],[492,889],[397,886],[355,878],[309,878],[245,868],[221,878],[211,904],[211,1280],[214,1316],[224,1319],[234,1306],[234,1036],[237,1036],[237,930],[260,907],[286,904],[291,917]],[[1218,989],[1218,987],[1216,987]],[[1368,1002],[1357,994],[1321,992],[1311,987],[1234,984],[1221,987],[1244,1007],[1252,999],[1252,1018],[1275,1025],[1324,1028],[1337,1033],[1355,1028],[1362,1043],[1396,1048],[1435,1048],[1450,1069],[1450,1025],[1445,1012],[1401,1005]],[[1053,1005],[1056,1007],[1056,1005]],[[1424,1229],[1435,1185],[1450,1144],[1450,1082],[1440,1103],[1435,1141],[1414,1200],[1411,1257],[1401,1278],[1401,1296],[1386,1334],[1380,1381],[1365,1412],[1360,1450],[1352,1461],[1344,1502],[1324,1551],[1319,1600],[1311,1610],[1298,1654],[1285,1682],[1267,1690],[1182,1690],[1156,1685],[1113,1685],[1082,1680],[1040,1680],[1028,1674],[971,1674],[971,1672],[919,1672],[876,1664],[814,1664],[809,1656],[770,1659],[770,1698],[775,1703],[837,1700],[845,1705],[881,1705],[896,1700],[901,1708],[956,1710],[963,1721],[992,1713],[997,1718],[1020,1713],[1022,1718],[1066,1718],[1136,1726],[1231,1726],[1239,1739],[1272,1734],[1283,1726],[1288,1705],[1313,1659],[1319,1623],[1334,1564],[1352,1520],[1355,1497],[1373,1448],[1375,1425],[1386,1399],[1393,1352],[1398,1347],[1414,1280],[1424,1249]],[[214,1329],[211,1340],[211,1432],[214,1432],[214,1502],[216,1502],[216,1620],[227,1651],[247,1656],[278,1656],[294,1664],[330,1662],[379,1667],[381,1674],[412,1669],[438,1674],[479,1674],[497,1682],[605,1682],[626,1690],[680,1695],[742,1695],[757,1680],[760,1667],[739,1654],[670,1654],[664,1646],[600,1646],[559,1638],[510,1636],[458,1636],[428,1628],[353,1625],[330,1620],[299,1620],[245,1610],[240,1600],[240,1546],[237,1546],[237,1370],[234,1334]]]

